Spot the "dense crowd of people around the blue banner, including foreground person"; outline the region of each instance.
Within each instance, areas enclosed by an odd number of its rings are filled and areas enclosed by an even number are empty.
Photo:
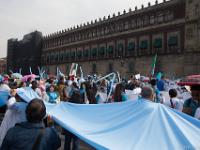
[[[161,103],[200,119],[200,85],[192,85],[191,98],[183,101],[179,98],[177,89],[166,90],[167,81],[164,76],[160,79],[151,78],[149,81],[135,76],[130,76],[128,80],[102,78],[96,82],[97,79],[99,79],[97,76],[80,78],[72,75],[46,79],[30,77],[24,81],[13,78],[12,75],[1,76],[0,91],[8,91],[10,96],[7,104],[0,108],[1,112],[5,112],[0,127],[0,150],[54,150],[61,146],[55,128],[47,127],[44,102],[53,104],[61,101],[76,104],[125,102],[131,100],[129,98],[131,93],[138,95],[137,100],[145,99]],[[30,88],[38,98],[27,104],[17,94],[18,88]],[[169,99],[162,95],[162,91],[168,92]],[[65,150],[79,149],[78,137],[65,129],[62,129],[62,134],[65,135]]]

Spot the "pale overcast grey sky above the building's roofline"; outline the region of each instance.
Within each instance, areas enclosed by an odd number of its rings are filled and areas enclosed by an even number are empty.
[[[35,30],[47,35],[124,9],[146,7],[148,2],[155,4],[155,0],[0,0],[0,58],[6,56],[10,38],[21,40]]]

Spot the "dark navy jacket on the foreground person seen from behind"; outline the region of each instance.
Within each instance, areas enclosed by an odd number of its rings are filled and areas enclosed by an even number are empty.
[[[8,130],[0,150],[32,150],[33,145],[44,128],[42,123],[24,122]],[[54,128],[45,128],[38,150],[56,150],[61,140]]]

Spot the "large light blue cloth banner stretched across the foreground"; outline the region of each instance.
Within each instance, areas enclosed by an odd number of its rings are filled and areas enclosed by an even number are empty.
[[[34,91],[26,90],[18,94],[27,102],[36,98]],[[60,126],[96,149],[200,149],[200,121],[162,104],[143,99],[98,105],[45,104]]]

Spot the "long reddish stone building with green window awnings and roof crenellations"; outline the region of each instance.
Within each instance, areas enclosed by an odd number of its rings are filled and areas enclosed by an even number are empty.
[[[49,34],[42,66],[49,73],[57,66],[68,73],[76,62],[86,74],[147,75],[156,53],[156,71],[170,77],[200,73],[199,0],[156,1]]]

